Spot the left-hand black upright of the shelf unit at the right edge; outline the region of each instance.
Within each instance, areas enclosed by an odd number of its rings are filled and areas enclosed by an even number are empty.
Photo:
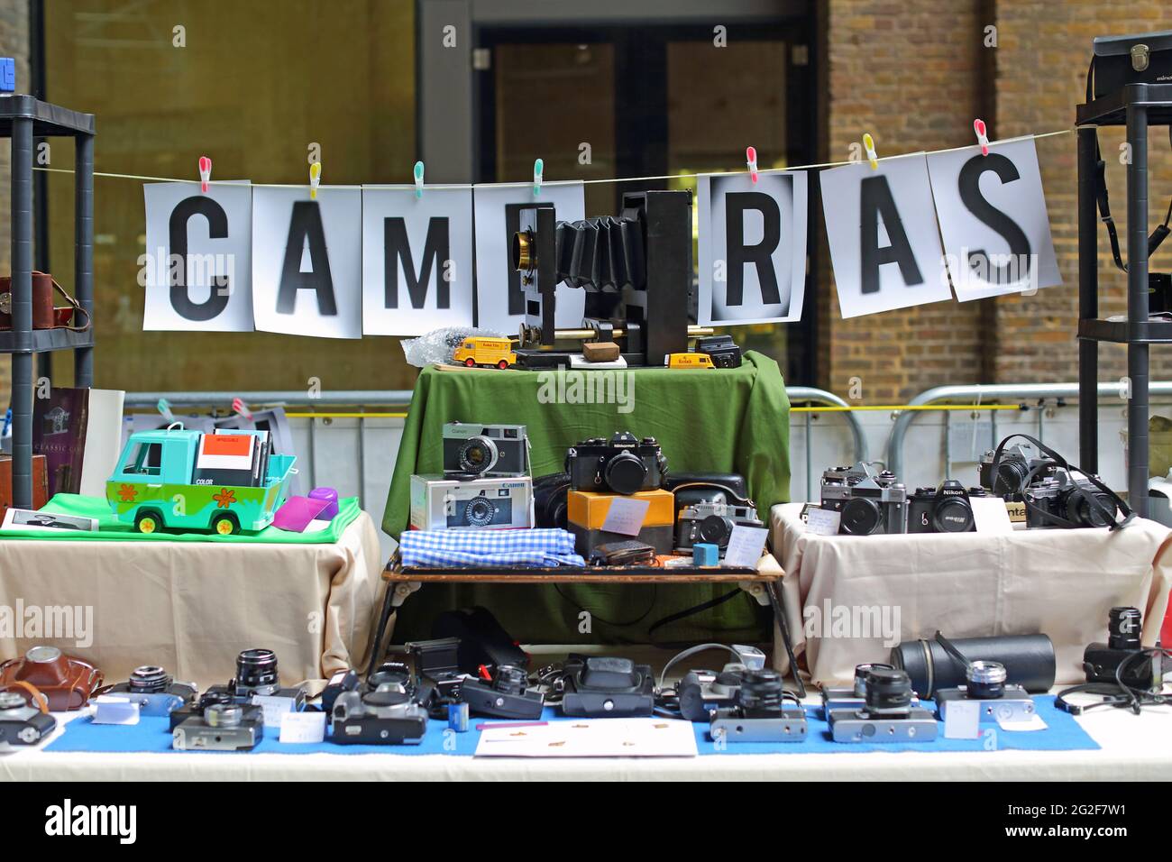
[[[1098,318],[1097,130],[1078,130],[1078,319]],[[1098,341],[1078,341],[1078,463],[1098,473]]]

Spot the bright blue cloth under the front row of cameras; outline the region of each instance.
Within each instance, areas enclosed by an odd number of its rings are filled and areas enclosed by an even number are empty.
[[[404,534],[406,535],[406,534]],[[995,724],[981,725],[980,739],[945,739],[943,722],[938,722],[939,735],[932,742],[834,742],[830,726],[822,719],[822,708],[808,706],[809,738],[802,742],[730,742],[717,751],[708,738],[708,724],[696,722],[696,748],[701,755],[721,754],[857,754],[859,752],[990,752],[990,751],[1089,751],[1098,744],[1075,721],[1074,715],[1054,705],[1052,695],[1034,698],[1037,714],[1047,724],[1044,731],[1002,731]],[[926,701],[925,708],[934,705]],[[546,721],[573,721],[546,707]],[[456,754],[470,756],[476,752],[481,734],[478,724],[499,724],[502,719],[478,718],[469,721],[468,733],[447,733],[448,722],[431,720],[420,745],[334,745],[328,729],[325,742],[280,742],[275,729],[253,751],[268,754]],[[88,717],[74,719],[64,733],[46,746],[48,752],[170,752],[171,734],[165,718],[143,717],[137,725],[95,725]],[[244,756],[248,752],[202,752]]]

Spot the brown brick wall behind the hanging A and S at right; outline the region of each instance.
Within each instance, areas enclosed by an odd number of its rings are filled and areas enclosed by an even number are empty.
[[[1110,14],[1104,15],[1104,9]],[[986,27],[996,46],[986,47]],[[1101,0],[830,0],[822,12],[827,57],[822,88],[824,155],[847,156],[864,131],[884,152],[958,147],[973,142],[983,117],[992,137],[1074,125],[1083,101],[1091,39],[1108,33],[1172,28],[1172,7],[1140,1],[1105,7]],[[1109,161],[1122,131],[1102,135]],[[1163,131],[1150,138],[1152,222],[1172,195],[1172,154]],[[1075,137],[1038,141],[1055,249],[1064,284],[1036,297],[936,303],[843,320],[824,272],[819,379],[849,394],[859,378],[863,400],[891,402],[932,386],[965,382],[1052,382],[1077,378],[1078,300]],[[1113,211],[1125,213],[1124,170],[1109,167]],[[1120,236],[1122,236],[1120,226]],[[1099,239],[1101,313],[1125,311],[1123,279]],[[1161,270],[1172,249],[1156,259]],[[1101,348],[1101,379],[1124,369],[1119,347]],[[1172,378],[1172,351],[1153,349],[1156,379]]]

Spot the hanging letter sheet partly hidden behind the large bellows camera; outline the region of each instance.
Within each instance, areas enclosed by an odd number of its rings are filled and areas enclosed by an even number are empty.
[[[476,206],[476,310],[477,326],[513,333],[525,321],[525,289],[520,273],[509,265],[512,237],[520,226],[520,208],[552,204],[559,222],[585,218],[581,183],[544,183],[541,194],[532,185],[477,185]],[[429,192],[424,192],[424,197]],[[581,326],[586,292],[558,285],[554,324]]]

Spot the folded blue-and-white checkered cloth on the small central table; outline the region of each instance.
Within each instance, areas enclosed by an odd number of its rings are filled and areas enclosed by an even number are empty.
[[[407,530],[404,568],[586,565],[566,530]]]

